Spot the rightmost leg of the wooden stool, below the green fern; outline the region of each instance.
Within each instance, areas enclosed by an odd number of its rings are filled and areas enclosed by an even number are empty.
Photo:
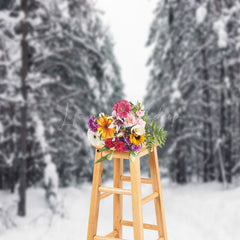
[[[157,225],[159,227],[158,235],[159,239],[163,238],[167,240],[167,229],[163,208],[163,198],[161,189],[161,180],[158,165],[157,147],[154,147],[153,151],[149,154],[149,165],[152,178],[153,192],[158,192],[159,196],[154,199]]]

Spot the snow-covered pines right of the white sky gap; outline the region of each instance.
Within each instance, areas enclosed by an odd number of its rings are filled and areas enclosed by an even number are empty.
[[[195,176],[232,181],[233,156],[239,154],[234,150],[239,138],[237,6],[172,0],[159,2],[155,11],[145,101],[152,116],[161,116],[166,125],[164,156],[170,176],[180,183]],[[174,121],[169,119],[174,115]]]

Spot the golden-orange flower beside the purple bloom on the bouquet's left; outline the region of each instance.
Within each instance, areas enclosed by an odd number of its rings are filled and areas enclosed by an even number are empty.
[[[102,138],[112,138],[115,132],[115,128],[109,128],[113,119],[107,118],[108,116],[104,115],[97,120],[98,123],[98,132],[101,134]]]

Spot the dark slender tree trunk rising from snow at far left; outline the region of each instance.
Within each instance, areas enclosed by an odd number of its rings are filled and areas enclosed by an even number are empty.
[[[28,0],[22,0],[22,10],[25,19],[28,14]],[[18,215],[26,215],[26,145],[27,145],[27,86],[26,77],[28,72],[28,27],[25,22],[22,24],[22,71],[21,71],[21,94],[23,104],[21,107],[21,156],[20,156],[20,185],[19,185],[19,203]]]

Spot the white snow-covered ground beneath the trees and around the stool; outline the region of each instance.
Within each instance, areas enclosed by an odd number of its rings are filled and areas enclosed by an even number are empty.
[[[112,182],[104,182],[112,186]],[[124,183],[124,187],[130,187]],[[240,188],[224,190],[217,183],[177,186],[162,181],[169,240],[238,240],[240,236]],[[142,184],[143,197],[151,193]],[[40,188],[28,190],[28,216],[12,216],[17,226],[0,228],[1,240],[86,240],[91,185],[60,190],[64,199],[65,216],[52,215]],[[13,196],[0,191],[0,202],[6,208]],[[124,196],[124,219],[131,220],[131,197]],[[111,232],[112,197],[100,204],[98,234]],[[9,210],[9,215],[11,215]],[[0,216],[1,216],[0,212]],[[144,222],[155,223],[153,202],[143,207]],[[9,224],[11,225],[11,224]],[[0,225],[1,226],[1,225]],[[125,239],[133,239],[131,227],[123,227]],[[157,239],[155,231],[145,230],[145,239]]]

